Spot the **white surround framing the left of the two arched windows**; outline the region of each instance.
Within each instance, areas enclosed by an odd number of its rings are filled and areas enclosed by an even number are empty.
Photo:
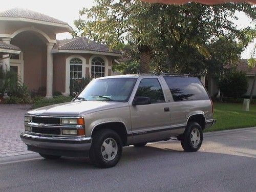
[[[82,60],[82,77],[86,76],[86,58],[82,57],[81,55],[71,55],[66,59],[66,86],[65,86],[65,93],[63,95],[68,96],[70,94],[69,86],[70,86],[70,61],[73,58],[79,58]]]

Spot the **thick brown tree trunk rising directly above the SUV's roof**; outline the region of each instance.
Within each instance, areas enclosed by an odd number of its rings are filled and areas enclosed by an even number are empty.
[[[140,73],[150,72],[151,53],[147,46],[140,46]]]

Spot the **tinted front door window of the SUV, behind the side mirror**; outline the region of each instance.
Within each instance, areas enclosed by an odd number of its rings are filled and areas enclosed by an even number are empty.
[[[142,79],[135,97],[149,97],[151,103],[165,102],[163,91],[157,78]]]

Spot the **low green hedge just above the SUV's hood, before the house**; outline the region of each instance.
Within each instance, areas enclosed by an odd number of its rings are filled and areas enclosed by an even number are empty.
[[[58,104],[63,102],[70,102],[72,100],[72,97],[66,97],[66,96],[56,96],[50,99],[46,99],[43,97],[35,97],[34,98],[34,104],[32,106],[33,109],[35,108],[41,108],[42,106],[48,106],[52,104]]]

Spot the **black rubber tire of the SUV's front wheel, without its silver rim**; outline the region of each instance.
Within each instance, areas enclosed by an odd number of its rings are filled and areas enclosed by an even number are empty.
[[[103,142],[111,138],[116,142],[117,153],[114,159],[106,160],[102,155]],[[122,140],[120,136],[113,130],[102,129],[97,131],[92,137],[92,146],[89,152],[90,161],[97,167],[108,168],[115,166],[121,158],[122,154]]]

